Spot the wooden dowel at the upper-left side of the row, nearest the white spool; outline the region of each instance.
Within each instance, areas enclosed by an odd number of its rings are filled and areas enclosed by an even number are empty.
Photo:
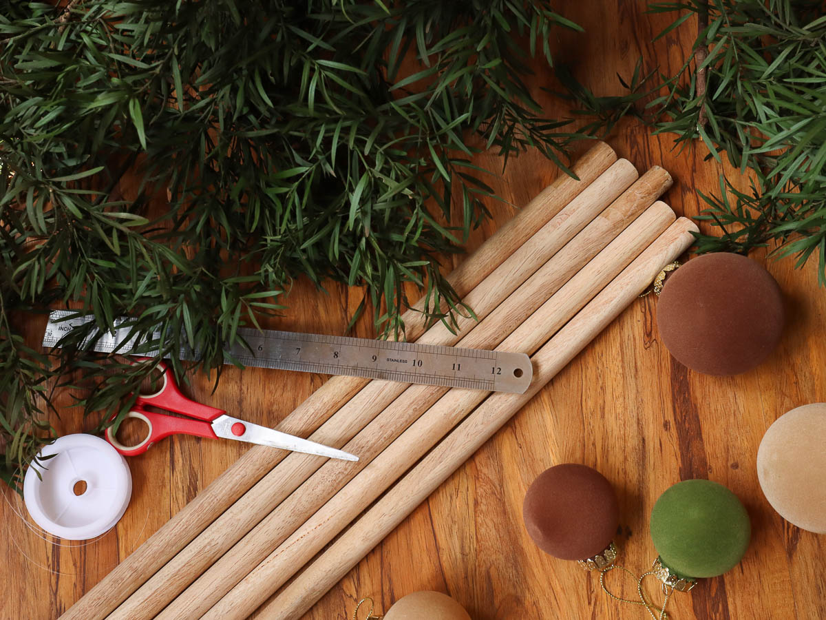
[[[582,156],[572,169],[579,180],[560,176],[534,198],[496,234],[448,276],[453,289],[463,296],[482,282],[488,274],[533,236],[563,207],[576,198],[607,170],[617,156],[605,143],[598,142]],[[420,313],[423,300],[402,317],[406,338],[414,341],[423,331]],[[306,436],[347,403],[368,381],[359,377],[333,377],[307,398],[279,425],[282,432]],[[231,465],[224,474],[207,486],[149,540],[138,547],[93,589],[79,599],[62,618],[65,620],[99,620],[135,592],[166,562],[181,551],[216,517],[249,490],[281,460],[280,451],[256,446]]]

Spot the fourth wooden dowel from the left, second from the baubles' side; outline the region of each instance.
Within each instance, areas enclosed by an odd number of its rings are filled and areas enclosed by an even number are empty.
[[[654,204],[548,300],[544,308],[551,304],[553,312],[534,312],[522,323],[537,335],[531,342],[511,334],[497,351],[536,351],[673,221],[671,208],[665,203]],[[204,618],[245,618],[252,613],[488,395],[479,390],[451,389]],[[315,484],[302,487],[293,497],[302,498],[313,487]]]

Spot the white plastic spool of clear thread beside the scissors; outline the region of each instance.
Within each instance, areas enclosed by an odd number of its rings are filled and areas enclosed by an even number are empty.
[[[126,459],[107,441],[83,433],[59,437],[40,451],[40,458],[45,455],[56,456],[41,460],[43,467],[31,465],[23,481],[23,500],[34,522],[69,541],[85,541],[115,527],[132,496]],[[81,481],[86,490],[76,494]]]

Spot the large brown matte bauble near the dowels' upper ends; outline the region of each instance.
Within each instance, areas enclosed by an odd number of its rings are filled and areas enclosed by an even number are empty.
[[[698,256],[667,279],[657,302],[662,343],[681,364],[705,374],[752,370],[783,331],[780,287],[754,260]]]

